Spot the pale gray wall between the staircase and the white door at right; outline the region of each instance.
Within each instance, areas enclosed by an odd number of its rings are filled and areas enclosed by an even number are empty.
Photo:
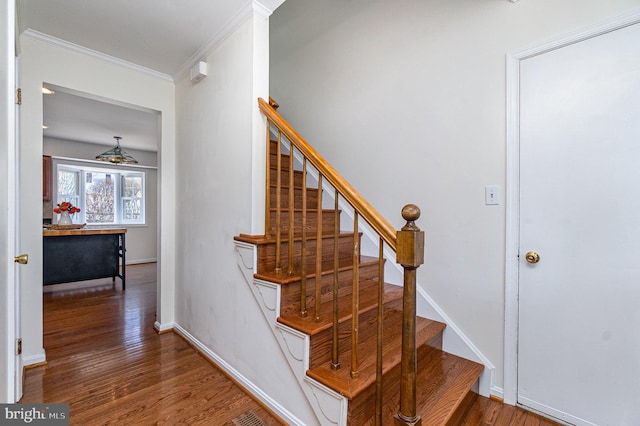
[[[279,112],[396,227],[426,230],[418,281],[503,386],[505,55],[637,0],[292,0],[271,17]]]

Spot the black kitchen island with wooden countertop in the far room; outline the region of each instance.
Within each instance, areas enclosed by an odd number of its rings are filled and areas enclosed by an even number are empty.
[[[43,284],[98,278],[122,281],[125,289],[124,228],[45,229]]]

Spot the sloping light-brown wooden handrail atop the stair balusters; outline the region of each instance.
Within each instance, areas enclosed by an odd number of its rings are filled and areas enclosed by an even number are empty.
[[[396,230],[393,226],[378,213],[331,165],[315,150],[309,143],[286,122],[275,109],[273,109],[264,99],[258,99],[260,111],[276,126],[307,158],[318,172],[340,192],[342,197],[353,208],[359,212],[360,216],[376,231],[382,239],[396,250]]]

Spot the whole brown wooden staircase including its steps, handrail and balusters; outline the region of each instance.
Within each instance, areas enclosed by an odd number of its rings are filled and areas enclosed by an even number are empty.
[[[306,336],[305,380],[348,400],[346,420],[339,424],[459,424],[477,395],[473,389],[482,365],[443,352],[445,324],[415,315],[415,350],[403,350],[406,290],[384,282],[383,246],[389,245],[387,240],[395,243],[395,235],[382,226],[378,255],[363,255],[359,218],[369,225],[375,222],[364,211],[370,206],[357,196],[353,201],[350,186],[334,185],[333,169],[316,167],[317,153],[294,145],[292,139],[306,142],[260,102],[270,133],[275,128],[277,134],[267,142],[267,235],[240,235],[236,240],[256,247],[254,278],[278,287],[277,322]],[[296,152],[302,161],[294,160]],[[314,165],[311,171],[308,162]],[[335,193],[323,196],[323,177],[325,184],[337,186]],[[353,208],[342,212],[338,200]],[[413,217],[403,215],[406,230],[417,232],[413,220],[419,211]],[[342,223],[349,216],[355,219]],[[406,275],[404,287],[409,287]],[[411,303],[415,312],[415,299]],[[401,394],[408,401],[401,402]]]

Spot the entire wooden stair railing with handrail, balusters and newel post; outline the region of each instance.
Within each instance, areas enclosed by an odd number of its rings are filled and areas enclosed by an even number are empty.
[[[367,222],[375,231],[379,238],[379,254],[378,254],[378,312],[377,312],[377,348],[376,348],[376,407],[375,407],[375,423],[381,425],[382,419],[382,353],[383,353],[383,330],[384,330],[384,244],[386,243],[394,252],[396,252],[396,262],[404,268],[404,289],[403,289],[403,309],[402,309],[402,354],[400,366],[400,409],[395,415],[394,422],[398,426],[419,426],[422,423],[421,417],[416,411],[416,377],[417,377],[417,348],[416,348],[416,272],[418,267],[424,262],[424,232],[416,225],[415,221],[420,217],[420,209],[413,205],[406,205],[402,209],[402,217],[407,221],[400,231],[396,231],[389,222],[387,222],[318,152],[309,145],[299,134],[287,123],[274,108],[275,101],[269,98],[267,103],[263,99],[258,99],[260,111],[267,118],[267,184],[271,183],[271,175],[269,169],[271,167],[271,130],[276,132],[277,129],[277,147],[276,147],[276,247],[275,247],[275,267],[276,273],[282,273],[281,266],[281,203],[282,203],[282,142],[283,135],[285,140],[289,142],[289,158],[288,158],[288,275],[293,273],[293,245],[294,245],[294,210],[295,195],[294,188],[296,185],[294,178],[294,147],[302,155],[302,228],[300,240],[300,316],[307,316],[307,162],[310,162],[318,172],[317,200],[316,200],[316,235],[315,235],[315,286],[313,291],[314,303],[314,319],[316,321],[323,320],[321,312],[322,297],[322,264],[323,264],[323,181],[326,179],[330,184],[334,193],[334,224],[332,230],[333,237],[333,288],[332,288],[332,353],[331,368],[337,370],[340,368],[339,361],[339,316],[338,316],[338,298],[339,298],[339,198],[342,197],[348,204],[353,207],[353,242],[352,242],[352,288],[351,288],[351,369],[350,376],[357,379],[360,376],[360,218]],[[276,104],[277,105],[277,104]],[[273,126],[273,128],[271,127]],[[270,213],[271,198],[269,190],[266,197],[265,211],[265,236],[270,238]],[[329,225],[328,225],[329,226]],[[327,231],[327,235],[329,231]],[[329,250],[329,249],[327,249]],[[326,310],[325,310],[326,314]]]

